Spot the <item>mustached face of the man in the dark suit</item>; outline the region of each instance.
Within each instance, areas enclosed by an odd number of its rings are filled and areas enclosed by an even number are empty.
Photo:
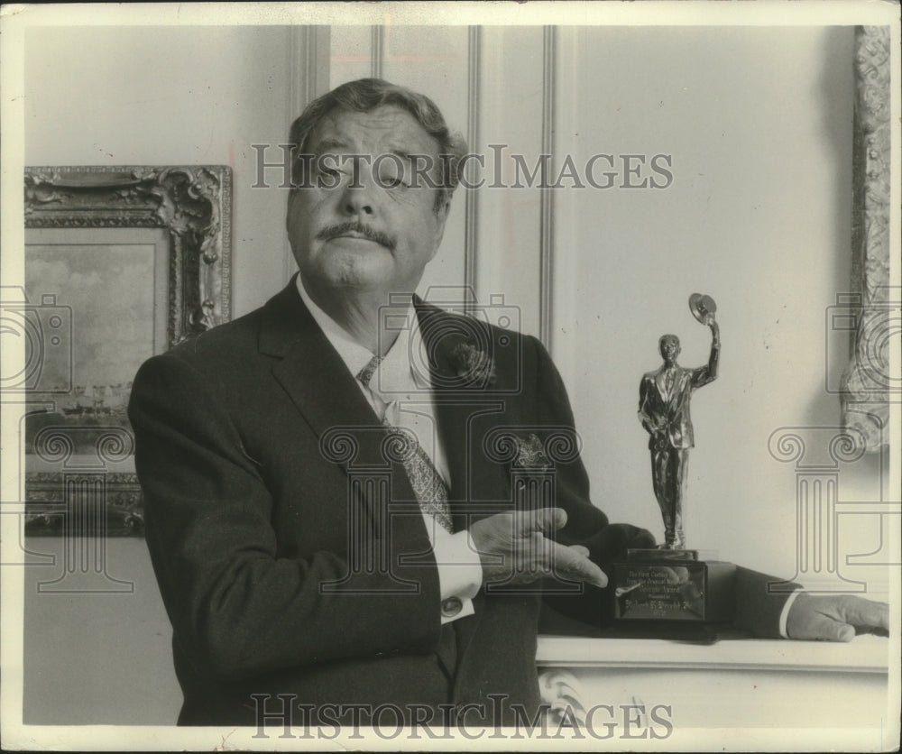
[[[448,204],[436,209],[440,189],[413,178],[408,155],[437,160],[435,139],[397,106],[334,110],[310,133],[305,151],[317,155],[314,170],[310,185],[292,192],[287,226],[308,290],[413,292],[438,250]]]

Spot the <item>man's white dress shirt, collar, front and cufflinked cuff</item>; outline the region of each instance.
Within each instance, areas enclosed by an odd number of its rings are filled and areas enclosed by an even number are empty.
[[[300,276],[297,285],[304,305],[356,379],[374,354],[354,341],[342,326],[310,299]],[[357,386],[378,418],[385,419],[394,427],[410,429],[416,435],[438,474],[449,484],[447,458],[438,437],[435,403],[428,375],[419,374],[416,364],[410,359],[411,340],[419,343],[419,324],[412,302],[406,310],[399,308],[397,317],[391,315],[391,326],[398,327],[397,340],[373,373],[369,385],[357,380]],[[423,512],[423,520],[438,566],[442,623],[472,615],[473,598],[483,582],[483,568],[478,554],[470,546],[469,533],[448,533],[427,511]]]

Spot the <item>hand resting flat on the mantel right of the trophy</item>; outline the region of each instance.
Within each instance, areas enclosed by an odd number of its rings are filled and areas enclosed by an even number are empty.
[[[889,605],[847,594],[799,594],[789,607],[789,639],[851,641],[856,634],[889,635]]]

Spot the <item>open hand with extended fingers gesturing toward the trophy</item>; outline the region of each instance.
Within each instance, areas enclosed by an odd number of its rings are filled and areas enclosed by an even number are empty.
[[[608,577],[585,547],[545,537],[566,524],[560,508],[515,510],[476,521],[470,539],[483,566],[483,584],[531,584],[546,576],[604,587]]]

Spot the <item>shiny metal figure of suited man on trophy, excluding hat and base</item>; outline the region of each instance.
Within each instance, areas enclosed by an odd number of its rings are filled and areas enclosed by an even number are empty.
[[[676,363],[679,338],[661,336],[658,349],[664,363],[655,372],[647,372],[639,386],[639,418],[649,433],[651,479],[655,497],[664,518],[666,547],[686,547],[683,533],[683,492],[686,489],[686,462],[689,448],[695,446],[689,401],[692,393],[717,379],[717,361],[721,353],[720,327],[713,317],[711,355],[708,363],[685,369]]]

